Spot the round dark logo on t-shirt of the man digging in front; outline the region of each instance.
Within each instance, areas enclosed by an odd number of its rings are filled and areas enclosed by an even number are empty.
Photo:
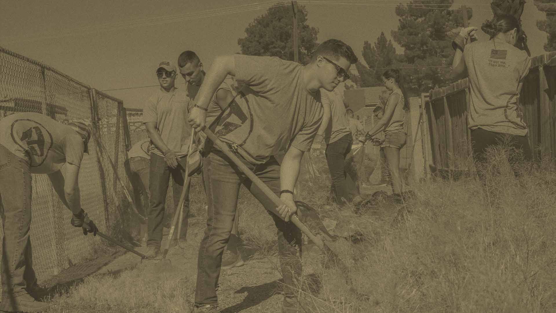
[[[236,101],[237,97],[240,97],[240,101]],[[238,92],[222,113],[224,115],[216,124],[215,135],[221,138],[233,133],[236,144],[240,146],[245,144],[253,131],[253,113],[244,92]]]

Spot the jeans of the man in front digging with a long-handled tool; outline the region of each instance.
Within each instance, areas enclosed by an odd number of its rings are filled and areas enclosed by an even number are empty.
[[[280,193],[280,164],[272,157],[264,164],[247,163],[240,160],[264,182],[272,192]],[[284,295],[294,295],[291,286],[301,275],[301,231],[295,224],[284,222],[271,213],[275,208],[272,200],[252,183],[244,173],[222,151],[213,149],[204,159],[203,180],[207,196],[208,212],[205,236],[201,240],[197,261],[197,287],[195,304],[215,304],[216,286],[220,276],[222,253],[230,238],[237,208],[237,198],[241,184],[266,208],[277,228],[278,250]]]

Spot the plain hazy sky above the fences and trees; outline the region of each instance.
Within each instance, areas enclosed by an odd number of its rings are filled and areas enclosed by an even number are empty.
[[[277,1],[247,0],[0,0],[0,46],[42,61],[85,84],[142,107],[156,91],[160,61],[176,62],[193,50],[205,69],[217,55],[240,51],[237,39]],[[408,0],[306,0],[307,23],[319,28],[318,41],[337,38],[361,58],[363,43],[380,32],[391,39],[399,25],[395,6]],[[456,0],[473,9],[470,26],[492,17],[487,0]],[[545,53],[544,19],[532,1],[525,4],[523,27],[532,56]],[[479,40],[488,39],[479,31]],[[393,41],[394,42],[394,41]],[[394,44],[398,53],[403,49]],[[183,87],[178,75],[177,87]],[[123,90],[113,90],[123,89]]]

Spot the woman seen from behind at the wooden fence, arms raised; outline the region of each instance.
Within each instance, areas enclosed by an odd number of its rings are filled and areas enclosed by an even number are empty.
[[[469,77],[468,127],[474,159],[484,162],[486,148],[509,136],[513,148],[522,150],[525,159],[530,160],[528,128],[523,120],[519,92],[531,58],[516,47],[522,32],[519,21],[512,15],[495,16],[481,27],[490,40],[467,43],[476,30],[476,27],[464,28],[454,39],[451,70],[452,77]]]

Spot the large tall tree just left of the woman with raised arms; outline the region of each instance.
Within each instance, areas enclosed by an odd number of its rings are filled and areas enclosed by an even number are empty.
[[[399,67],[411,67],[403,75],[408,90],[426,92],[449,80],[454,50],[451,41],[463,27],[463,14],[452,8],[453,0],[414,0],[396,7],[398,30],[394,40],[405,49]],[[468,18],[473,11],[467,9]]]

